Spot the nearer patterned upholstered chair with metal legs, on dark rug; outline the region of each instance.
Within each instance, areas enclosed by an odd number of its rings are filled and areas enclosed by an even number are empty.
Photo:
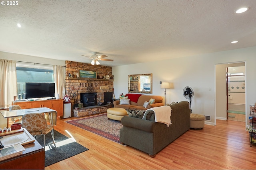
[[[36,135],[44,135],[44,148],[45,148],[45,135],[51,132],[53,125],[48,125],[42,113],[26,113],[22,116],[22,127],[36,137]],[[54,141],[54,137],[52,135]]]

